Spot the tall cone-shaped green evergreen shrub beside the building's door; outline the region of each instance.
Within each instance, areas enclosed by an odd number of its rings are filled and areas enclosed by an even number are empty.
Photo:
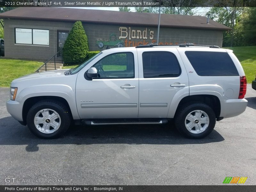
[[[89,51],[88,39],[81,21],[76,21],[63,47],[63,59],[68,64],[79,64]]]

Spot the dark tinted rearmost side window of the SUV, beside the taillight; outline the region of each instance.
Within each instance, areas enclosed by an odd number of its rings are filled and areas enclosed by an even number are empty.
[[[239,76],[227,52],[186,51],[185,54],[199,76]]]

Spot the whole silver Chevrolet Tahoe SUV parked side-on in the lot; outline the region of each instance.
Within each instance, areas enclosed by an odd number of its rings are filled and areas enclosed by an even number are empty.
[[[70,123],[165,124],[203,138],[244,112],[244,70],[232,50],[193,44],[104,50],[74,69],[12,81],[8,112],[41,138]]]

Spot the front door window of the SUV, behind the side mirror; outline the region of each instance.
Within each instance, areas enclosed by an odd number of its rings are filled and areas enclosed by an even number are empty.
[[[134,78],[134,57],[131,52],[114,53],[98,61],[98,78]]]

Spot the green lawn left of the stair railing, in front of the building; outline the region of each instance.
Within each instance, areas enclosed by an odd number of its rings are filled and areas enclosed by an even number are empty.
[[[34,73],[41,65],[37,61],[0,59],[0,87],[9,87],[13,79]]]

